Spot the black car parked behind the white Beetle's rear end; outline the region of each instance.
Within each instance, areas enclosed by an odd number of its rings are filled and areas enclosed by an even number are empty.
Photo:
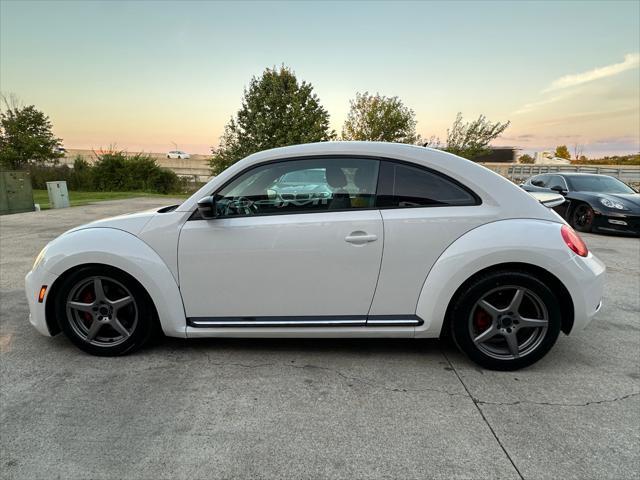
[[[640,194],[609,175],[545,173],[521,185],[528,192],[557,192],[566,201],[554,208],[580,232],[640,235]]]

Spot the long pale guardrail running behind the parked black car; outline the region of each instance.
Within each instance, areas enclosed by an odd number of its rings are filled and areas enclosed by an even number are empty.
[[[626,183],[640,183],[640,165],[536,165],[521,163],[483,163],[485,167],[513,182],[540,173],[581,172],[611,175]]]

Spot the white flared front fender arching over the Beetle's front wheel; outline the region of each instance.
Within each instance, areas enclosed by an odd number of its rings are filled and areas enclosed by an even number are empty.
[[[127,272],[153,300],[162,330],[168,336],[186,336],[182,296],[162,258],[138,237],[115,228],[86,228],[66,233],[46,247],[38,266],[60,276],[85,264],[111,265]]]

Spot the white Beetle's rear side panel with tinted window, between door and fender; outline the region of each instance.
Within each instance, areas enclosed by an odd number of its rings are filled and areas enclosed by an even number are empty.
[[[441,173],[401,162],[381,162],[377,192],[384,255],[369,315],[410,318],[442,252],[465,232],[500,218],[499,208]]]

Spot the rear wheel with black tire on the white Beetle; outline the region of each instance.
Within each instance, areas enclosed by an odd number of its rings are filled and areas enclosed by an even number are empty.
[[[507,305],[505,310],[493,310],[493,314],[485,312],[489,320],[484,318],[484,310],[479,302],[490,299],[487,300],[491,302],[488,306],[497,305],[496,302],[502,301],[502,296],[508,303],[513,304],[514,300],[509,300],[510,291],[524,292],[525,300],[521,300],[520,306],[516,307],[515,315],[507,315],[514,313],[510,311],[513,308]],[[514,293],[514,299],[515,296]],[[542,281],[527,272],[497,271],[481,275],[465,285],[454,302],[450,326],[455,344],[472,361],[490,370],[518,370],[534,364],[547,354],[560,334],[561,312],[556,296]],[[541,320],[536,320],[533,309],[535,312],[542,312]],[[521,315],[522,312],[525,315]],[[524,325],[525,321],[543,322],[544,319],[547,321],[544,327]],[[485,322],[481,327],[476,323],[479,320]],[[508,327],[509,324],[511,327]],[[482,329],[475,331],[476,328]],[[491,328],[496,329],[496,333],[489,332]],[[520,339],[516,341],[515,350],[512,350],[517,351],[517,355],[511,355],[507,340],[511,337],[512,329],[516,339]],[[474,342],[474,338],[478,340],[480,334],[484,335],[485,332],[493,336],[489,336],[483,343]],[[520,351],[518,342],[523,341],[526,347],[529,340],[529,346]],[[504,345],[501,342],[504,342]],[[501,350],[505,352],[500,353]]]

